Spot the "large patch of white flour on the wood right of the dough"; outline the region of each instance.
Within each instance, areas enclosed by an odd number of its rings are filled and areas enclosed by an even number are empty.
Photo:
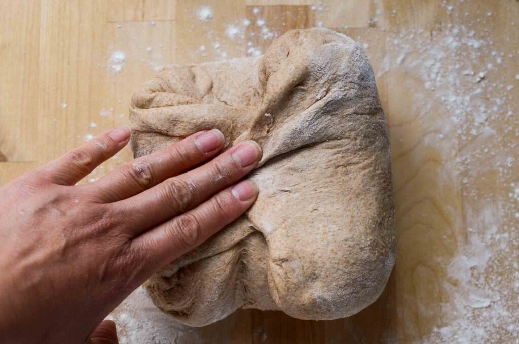
[[[445,159],[439,187],[442,181],[462,185],[463,209],[453,209],[457,213],[452,217],[459,219],[458,211],[463,211],[466,223],[452,227],[464,234],[456,236],[453,257],[430,262],[446,267],[447,276],[439,280],[445,295],[437,314],[440,320],[421,338],[424,342],[491,342],[493,338],[512,342],[519,337],[519,227],[513,220],[519,214],[519,188],[510,183],[519,181],[517,147],[513,140],[503,139],[519,137],[511,108],[514,85],[506,78],[515,76],[517,64],[491,39],[461,25],[441,32],[391,34],[387,55],[376,69],[377,77],[391,77],[398,71],[405,73],[404,82],[416,84],[411,96],[413,121],[420,123],[419,130],[434,134],[423,136],[420,151],[438,150]],[[367,52],[376,58],[375,51]],[[516,54],[511,55],[516,58]],[[501,68],[510,73],[496,73]],[[487,175],[503,181],[502,190],[485,191]],[[416,302],[423,309],[418,316],[428,321],[427,306]]]

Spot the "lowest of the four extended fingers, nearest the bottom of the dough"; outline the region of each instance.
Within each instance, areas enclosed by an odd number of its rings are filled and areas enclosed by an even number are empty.
[[[142,252],[151,264],[145,266],[144,270],[152,273],[206,241],[240,217],[256,201],[257,194],[256,184],[243,180],[234,187],[217,193],[198,207],[134,239],[133,248]],[[139,257],[139,253],[137,256]]]

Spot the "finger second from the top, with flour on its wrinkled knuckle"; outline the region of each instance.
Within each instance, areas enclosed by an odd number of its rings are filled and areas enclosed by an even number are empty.
[[[127,199],[216,155],[224,141],[218,129],[196,133],[121,166],[92,187],[104,202]]]

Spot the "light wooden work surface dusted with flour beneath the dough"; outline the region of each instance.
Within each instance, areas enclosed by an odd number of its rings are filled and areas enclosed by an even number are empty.
[[[125,123],[132,92],[162,65],[259,54],[314,26],[358,39],[388,118],[399,248],[384,294],[348,319],[241,310],[189,329],[138,290],[113,314],[121,342],[516,341],[517,1],[2,0],[0,182]]]

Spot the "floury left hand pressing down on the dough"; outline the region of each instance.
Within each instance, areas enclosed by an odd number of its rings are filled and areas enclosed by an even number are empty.
[[[255,184],[230,186],[260,147],[241,142],[200,165],[222,149],[216,129],[75,186],[129,136],[107,131],[0,188],[0,341],[89,341],[132,290],[254,203]]]

